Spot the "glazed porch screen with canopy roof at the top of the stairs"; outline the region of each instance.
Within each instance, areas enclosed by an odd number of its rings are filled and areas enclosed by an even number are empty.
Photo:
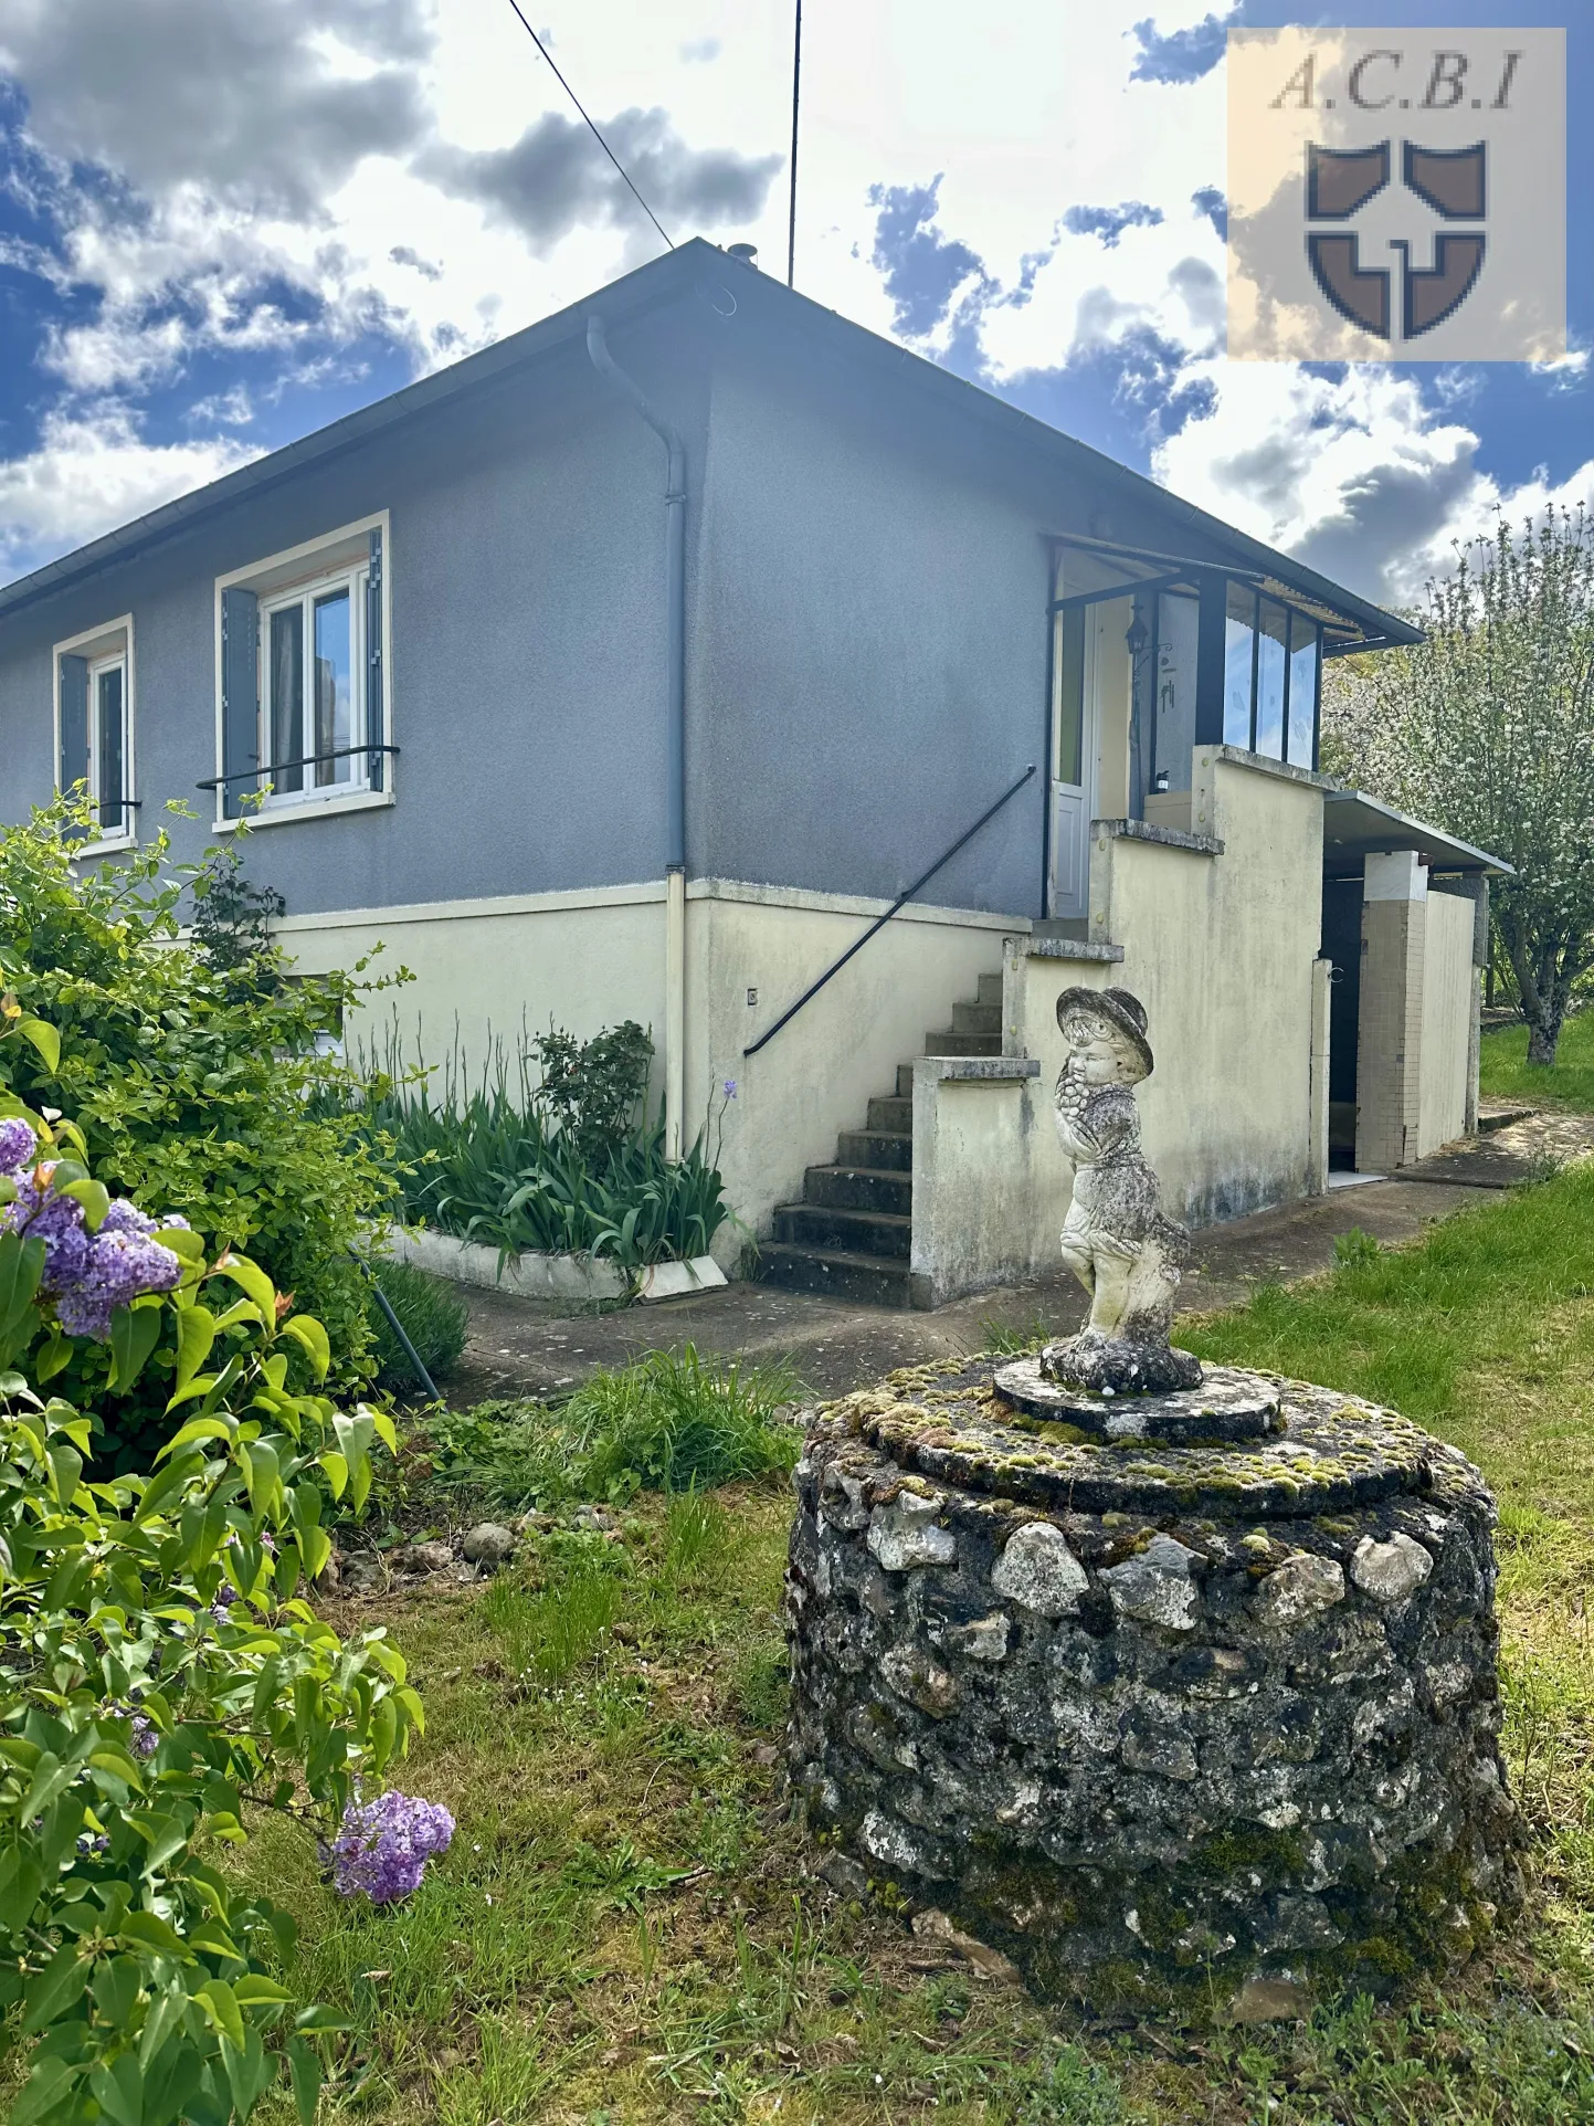
[[[1126,642],[1143,789],[1184,789],[1190,748],[1201,744],[1316,770],[1324,657],[1422,642],[1422,629],[1316,570],[1245,546],[1271,566],[1052,536],[1058,646],[1088,606],[1133,600]]]

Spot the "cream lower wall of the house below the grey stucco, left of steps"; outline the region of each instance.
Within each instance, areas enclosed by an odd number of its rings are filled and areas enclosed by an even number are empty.
[[[380,1042],[397,1025],[425,1061],[442,1061],[455,1027],[474,1067],[491,1035],[525,1023],[578,1035],[635,1018],[663,1048],[663,882],[298,916],[278,925],[304,972],[353,967],[383,946],[372,974],[408,967],[412,982],[351,1016],[346,1040]],[[757,1057],[742,1050],[837,959],[886,904],[693,880],[686,889],[686,1142],[706,1123],[727,1199],[742,1227],[723,1229],[731,1267],[748,1235],[767,1235],[776,1203],[801,1195],[803,1167],[835,1159],[863,1129],[869,1095],[895,1093],[897,1065],[950,1025],[982,974],[1001,969],[1003,933],[1024,918],[956,908],[905,908]],[[757,1006],[746,993],[757,989]],[[725,1095],[725,1084],[735,1095]],[[661,1069],[655,1069],[655,1099]],[[712,1123],[710,1123],[712,1118]]]

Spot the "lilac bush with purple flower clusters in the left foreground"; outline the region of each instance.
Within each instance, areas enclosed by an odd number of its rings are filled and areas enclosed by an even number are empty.
[[[83,1342],[117,1386],[168,1346],[149,1473],[87,1473],[91,1416],[47,1388]],[[385,1901],[448,1843],[444,1809],[361,1792],[421,1724],[402,1656],[300,1594],[325,1499],[363,1503],[393,1446],[319,1393],[327,1365],[255,1263],[115,1201],[70,1123],[0,1095],[0,2015],[34,2047],[13,2126],[227,2126],[283,2064],[308,2126],[338,2020],[281,1979],[289,1916],[204,1852],[287,1811],[344,1894]]]

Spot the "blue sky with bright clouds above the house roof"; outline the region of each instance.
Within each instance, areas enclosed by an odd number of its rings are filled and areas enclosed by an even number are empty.
[[[784,276],[791,0],[523,0],[676,240]],[[1224,32],[1560,26],[1592,0],[806,0],[797,285],[1409,604],[1594,502],[1594,138],[1568,351],[1224,357]],[[0,580],[383,398],[663,242],[510,0],[4,0]]]

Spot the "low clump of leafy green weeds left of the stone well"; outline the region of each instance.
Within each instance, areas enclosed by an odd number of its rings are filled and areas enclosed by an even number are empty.
[[[595,1373],[561,1407],[478,1403],[427,1420],[434,1475],[499,1507],[703,1490],[791,1469],[801,1439],[776,1410],[784,1367],[703,1365],[689,1344]]]

